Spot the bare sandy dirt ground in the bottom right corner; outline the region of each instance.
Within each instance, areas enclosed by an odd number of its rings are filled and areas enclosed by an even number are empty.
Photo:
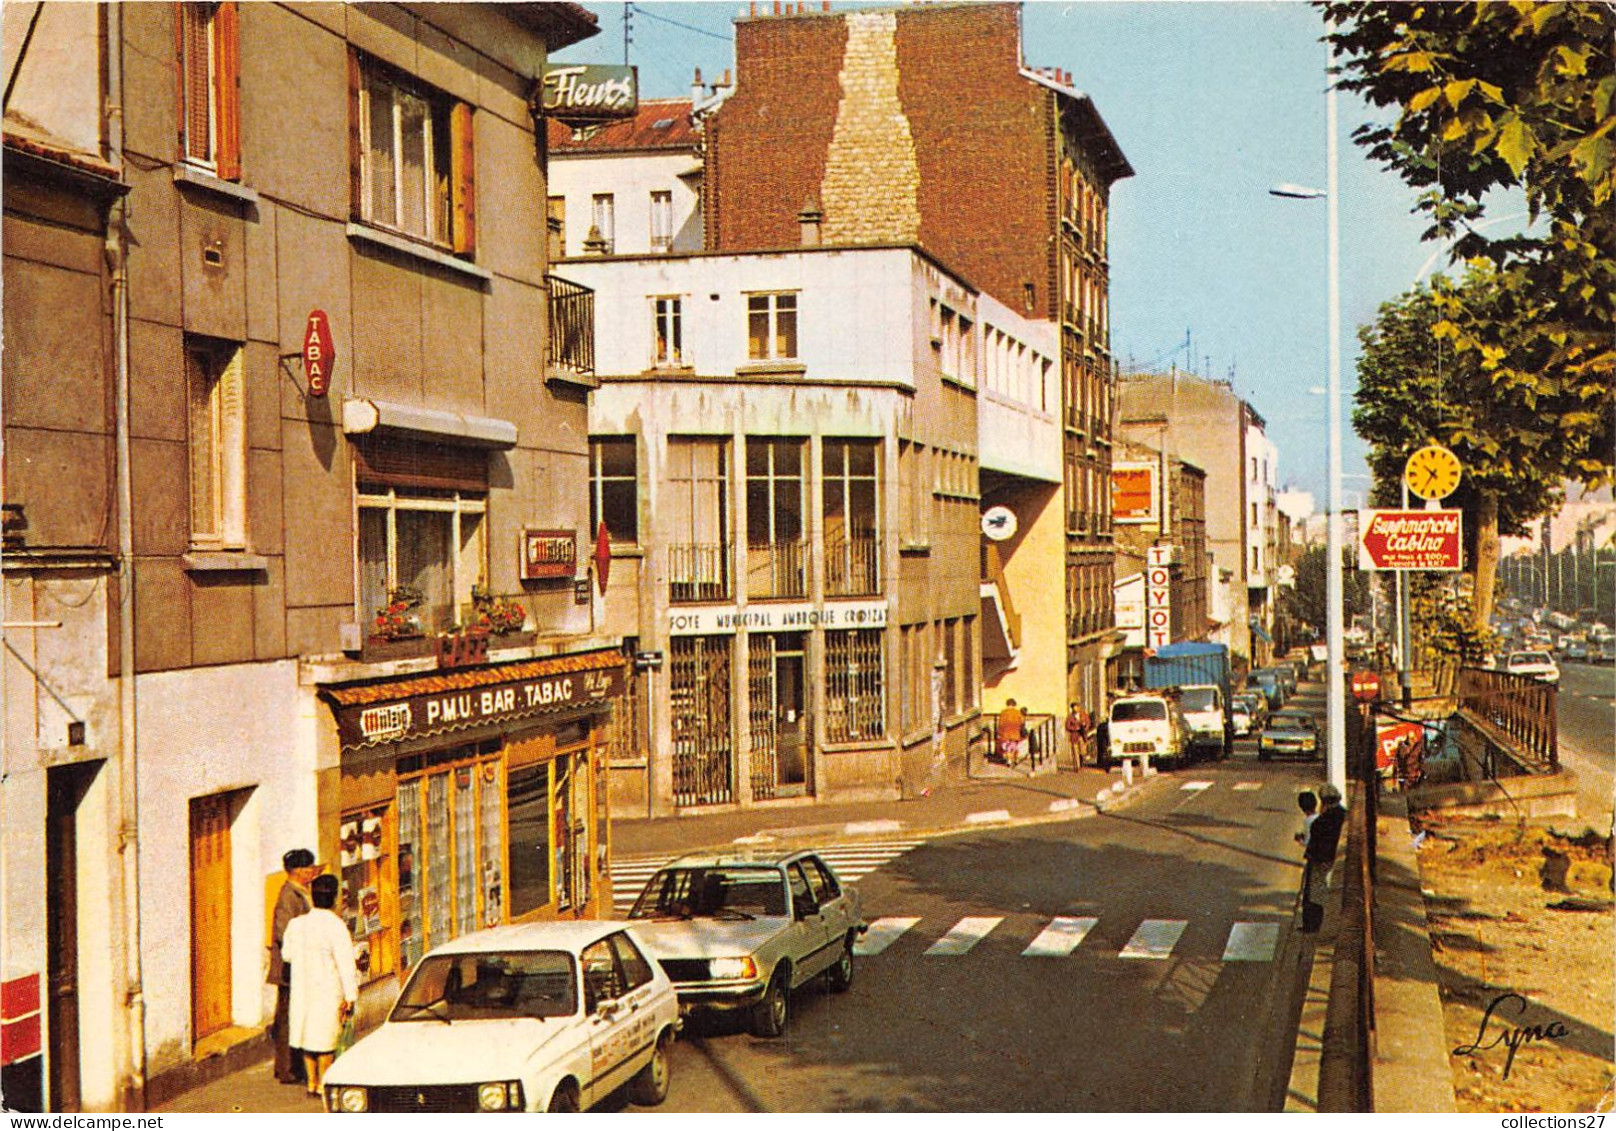
[[[1498,821],[1420,826],[1420,876],[1459,1110],[1611,1112],[1616,931],[1608,842]]]

